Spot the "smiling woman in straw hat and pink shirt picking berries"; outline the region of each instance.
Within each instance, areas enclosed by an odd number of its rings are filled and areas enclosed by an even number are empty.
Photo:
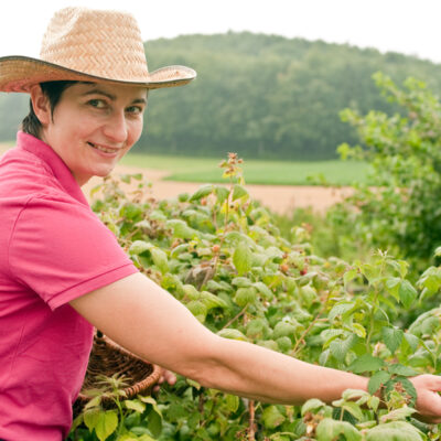
[[[0,58],[0,90],[31,96],[0,161],[1,439],[67,435],[93,325],[152,363],[252,399],[331,401],[366,389],[367,378],[211,333],[138,272],[87,205],[80,186],[139,139],[148,90],[194,77],[183,66],[149,74],[137,23],[115,11],[58,11],[41,60]],[[441,379],[412,383],[422,417],[441,421]]]

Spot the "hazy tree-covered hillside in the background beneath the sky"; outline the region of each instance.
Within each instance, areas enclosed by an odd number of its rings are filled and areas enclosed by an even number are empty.
[[[153,153],[330,159],[356,140],[340,110],[394,109],[378,97],[374,72],[441,90],[440,65],[321,41],[229,32],[155,40],[146,52],[150,71],[184,64],[198,73],[186,87],[150,94],[139,150]],[[0,96],[0,139],[14,138],[26,107],[26,96]]]

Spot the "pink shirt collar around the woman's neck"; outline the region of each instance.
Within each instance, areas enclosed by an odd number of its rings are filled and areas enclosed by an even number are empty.
[[[87,200],[71,170],[51,146],[32,135],[19,131],[17,133],[17,148],[25,150],[44,161],[63,189],[78,202],[88,206]]]

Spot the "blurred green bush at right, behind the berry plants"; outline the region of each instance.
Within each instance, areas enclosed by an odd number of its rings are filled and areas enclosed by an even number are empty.
[[[346,237],[427,265],[441,245],[441,105],[413,78],[404,88],[380,73],[374,78],[402,112],[342,112],[357,128],[362,147],[345,143],[340,153],[369,162],[373,185],[358,184],[330,216],[334,225],[352,225]]]

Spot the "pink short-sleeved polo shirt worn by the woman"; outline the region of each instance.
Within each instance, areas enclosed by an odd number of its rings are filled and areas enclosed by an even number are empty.
[[[135,272],[62,159],[19,132],[0,160],[0,439],[67,435],[93,341],[68,302]]]

